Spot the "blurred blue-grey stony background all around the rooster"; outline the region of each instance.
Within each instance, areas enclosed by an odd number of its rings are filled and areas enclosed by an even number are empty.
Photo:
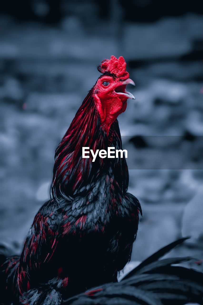
[[[135,83],[119,117],[143,217],[132,260],[183,236],[203,260],[201,1],[2,1],[0,241],[20,252],[49,197],[54,152],[97,65],[123,56]],[[174,255],[174,252],[171,255]]]

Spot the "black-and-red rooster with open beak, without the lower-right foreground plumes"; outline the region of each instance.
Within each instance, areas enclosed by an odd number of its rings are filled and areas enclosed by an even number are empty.
[[[82,157],[114,147],[122,150],[117,117],[126,110],[134,85],[125,59],[111,56],[88,92],[55,151],[48,200],[34,217],[20,257],[1,266],[7,303],[61,304],[95,285],[117,282],[136,239],[138,199],[127,192],[125,156]]]

